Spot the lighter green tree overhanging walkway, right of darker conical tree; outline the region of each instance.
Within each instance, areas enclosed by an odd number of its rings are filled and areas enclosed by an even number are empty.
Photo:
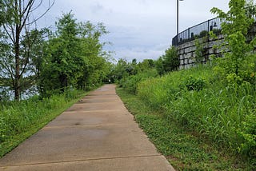
[[[111,55],[103,50],[103,46],[109,42],[100,42],[103,34],[108,34],[106,27],[100,22],[93,25],[90,22],[78,23],[79,35],[82,41],[83,56],[89,61],[86,72],[83,72],[81,78],[78,79],[78,87],[90,89],[96,85],[108,81],[111,69]]]

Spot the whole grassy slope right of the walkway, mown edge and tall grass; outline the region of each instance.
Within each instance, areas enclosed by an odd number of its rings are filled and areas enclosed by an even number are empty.
[[[255,87],[224,86],[210,67],[134,84],[118,94],[175,169],[255,169]]]

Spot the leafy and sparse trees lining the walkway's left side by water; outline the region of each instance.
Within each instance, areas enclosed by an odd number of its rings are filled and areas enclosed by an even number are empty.
[[[4,17],[6,23],[0,31],[0,101],[20,100],[34,93],[49,97],[65,89],[92,89],[109,79],[113,65],[110,54],[103,50],[104,42],[99,40],[108,33],[102,23],[77,22],[74,14],[63,14],[54,32],[24,28],[16,45],[10,43],[13,38],[6,30],[7,25],[15,23],[8,22],[8,15]],[[18,56],[13,51],[15,46]]]

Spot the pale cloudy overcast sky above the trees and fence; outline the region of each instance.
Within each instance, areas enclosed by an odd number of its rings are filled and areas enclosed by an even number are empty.
[[[54,25],[62,13],[72,10],[79,22],[103,22],[110,31],[102,38],[112,42],[106,50],[114,58],[138,62],[157,59],[171,45],[176,34],[176,0],[55,0],[40,22]],[[179,2],[179,31],[214,18],[212,7],[228,10],[229,0],[183,0]]]

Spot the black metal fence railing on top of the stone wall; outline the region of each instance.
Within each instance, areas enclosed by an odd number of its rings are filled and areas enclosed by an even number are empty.
[[[187,30],[182,31],[176,35],[172,40],[173,46],[179,46],[184,42],[189,42],[195,38],[203,38],[210,31],[213,31],[214,34],[220,34],[222,30],[222,21],[220,18],[212,18],[206,22],[202,22],[196,26],[192,26]]]

